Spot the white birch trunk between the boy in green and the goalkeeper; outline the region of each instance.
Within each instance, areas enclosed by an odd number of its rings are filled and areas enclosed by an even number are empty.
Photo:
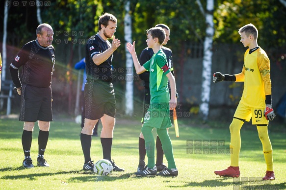
[[[207,1],[206,11],[206,38],[204,42],[204,59],[202,72],[202,95],[200,114],[204,121],[208,119],[209,95],[211,83],[211,62],[212,62],[212,38],[213,38],[213,0]]]

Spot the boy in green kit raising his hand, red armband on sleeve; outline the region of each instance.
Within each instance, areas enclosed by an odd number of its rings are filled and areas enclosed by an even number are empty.
[[[178,169],[175,165],[173,148],[167,128],[171,127],[170,109],[176,107],[176,84],[175,78],[168,68],[166,55],[161,49],[165,40],[165,31],[161,27],[150,28],[147,31],[147,46],[154,50],[154,55],[143,66],[140,65],[136,52],[135,42],[133,45],[127,43],[126,47],[132,55],[134,67],[137,74],[150,71],[150,107],[145,115],[144,124],[141,129],[145,138],[145,147],[148,157],[147,166],[137,176],[178,176]],[[168,89],[168,79],[171,86],[171,99]],[[170,101],[169,101],[170,99]],[[155,140],[152,134],[156,128],[158,137],[162,142],[162,149],[168,161],[168,167],[157,173],[155,166]]]

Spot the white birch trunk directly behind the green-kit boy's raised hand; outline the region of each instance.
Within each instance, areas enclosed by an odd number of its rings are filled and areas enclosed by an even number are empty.
[[[125,4],[125,18],[124,18],[124,34],[125,41],[132,43],[132,30],[131,30],[131,17],[130,0]],[[133,115],[133,61],[131,54],[125,49],[126,52],[126,91],[125,91],[125,114]]]

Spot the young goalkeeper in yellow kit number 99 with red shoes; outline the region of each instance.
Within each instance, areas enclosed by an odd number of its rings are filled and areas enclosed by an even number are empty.
[[[213,74],[213,82],[235,81],[244,82],[241,100],[234,113],[230,125],[231,166],[222,171],[214,171],[216,175],[225,177],[239,177],[240,129],[244,121],[257,125],[258,135],[262,143],[263,154],[267,169],[263,180],[274,180],[272,146],[268,137],[267,126],[269,120],[276,118],[271,105],[270,62],[265,51],[257,44],[258,30],[253,24],[247,24],[238,30],[244,47],[244,65],[239,74]],[[264,117],[265,116],[265,117]]]

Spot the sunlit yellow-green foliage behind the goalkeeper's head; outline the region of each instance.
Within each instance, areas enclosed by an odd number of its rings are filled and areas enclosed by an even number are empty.
[[[221,0],[214,12],[214,40],[239,42],[238,29],[254,24],[262,47],[283,47],[286,43],[286,7],[277,0]]]

